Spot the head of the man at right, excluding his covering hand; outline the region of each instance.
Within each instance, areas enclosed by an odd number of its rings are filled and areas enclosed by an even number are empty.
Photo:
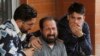
[[[85,7],[81,3],[73,3],[68,8],[68,20],[69,23],[75,23],[78,26],[82,26],[85,20]]]

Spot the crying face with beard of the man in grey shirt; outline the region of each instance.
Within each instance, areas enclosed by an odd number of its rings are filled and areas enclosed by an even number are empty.
[[[48,43],[54,43],[57,39],[57,26],[54,20],[47,20],[43,24],[43,39]]]

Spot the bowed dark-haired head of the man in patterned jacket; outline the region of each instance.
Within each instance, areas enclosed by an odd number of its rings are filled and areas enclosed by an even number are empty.
[[[14,20],[22,33],[27,33],[31,29],[36,17],[36,10],[27,4],[21,4],[14,12]]]

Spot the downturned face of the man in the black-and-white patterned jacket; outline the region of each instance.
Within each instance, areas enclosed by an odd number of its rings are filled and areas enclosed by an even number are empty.
[[[20,30],[22,33],[28,33],[28,31],[32,28],[32,26],[35,24],[36,19],[32,18],[29,21],[25,21],[22,23]]]

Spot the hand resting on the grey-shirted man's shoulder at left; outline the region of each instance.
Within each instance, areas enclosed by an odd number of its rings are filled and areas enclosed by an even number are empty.
[[[42,43],[41,43],[39,37],[32,36],[30,38],[30,41],[29,41],[29,45],[28,46],[34,47],[35,49],[41,49]]]

